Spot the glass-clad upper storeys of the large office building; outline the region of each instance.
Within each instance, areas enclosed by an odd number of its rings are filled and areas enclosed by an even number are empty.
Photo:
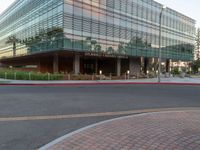
[[[161,8],[153,0],[16,0],[0,16],[0,59],[12,64],[9,60],[17,63],[20,57],[57,53],[52,61],[61,55],[72,56],[72,64],[86,57],[105,57],[119,66],[118,58],[158,58]],[[195,20],[170,8],[164,10],[163,59],[193,60],[194,39]],[[96,65],[81,66],[84,70]]]

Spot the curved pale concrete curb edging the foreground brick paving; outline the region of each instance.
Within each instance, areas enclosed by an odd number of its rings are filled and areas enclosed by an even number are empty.
[[[41,148],[39,148],[38,150],[46,150],[46,149],[49,149],[50,147],[52,147],[53,145],[55,144],[58,144],[59,142],[62,142],[63,140],[65,140],[66,138],[70,137],[70,136],[73,136],[77,133],[80,133],[82,131],[85,131],[87,129],[90,129],[90,128],[93,128],[93,127],[96,127],[98,125],[102,125],[104,123],[109,123],[109,122],[112,122],[112,121],[117,121],[117,120],[120,120],[120,119],[125,119],[125,118],[130,118],[130,117],[141,117],[141,116],[145,116],[145,115],[152,115],[152,114],[160,114],[160,113],[174,113],[174,112],[191,112],[191,111],[200,111],[198,109],[196,110],[174,110],[174,111],[161,111],[161,112],[147,112],[147,113],[142,113],[142,114],[135,114],[135,115],[128,115],[128,116],[123,116],[123,117],[119,117],[119,118],[114,118],[114,119],[109,119],[109,120],[105,120],[105,121],[101,121],[99,123],[95,123],[95,124],[92,124],[92,125],[89,125],[89,126],[86,126],[86,127],[83,127],[83,128],[80,128],[74,132],[71,132],[71,133],[68,133],[60,138],[57,138],[55,139],[54,141],[42,146]]]

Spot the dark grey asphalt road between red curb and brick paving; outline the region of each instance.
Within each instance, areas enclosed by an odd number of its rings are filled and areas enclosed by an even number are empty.
[[[1,86],[0,149],[37,149],[71,131],[119,115],[41,120],[34,116],[200,107],[199,94],[200,86],[177,85]],[[18,117],[33,119],[2,119]]]

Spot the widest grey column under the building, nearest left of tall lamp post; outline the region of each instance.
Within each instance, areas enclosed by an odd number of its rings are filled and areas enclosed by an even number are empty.
[[[141,58],[129,58],[129,71],[130,74],[139,74],[141,70]]]

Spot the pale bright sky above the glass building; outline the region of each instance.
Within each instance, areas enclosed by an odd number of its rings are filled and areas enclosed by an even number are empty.
[[[15,0],[0,0],[0,13],[2,13]],[[197,21],[200,27],[200,0],[155,0]]]

